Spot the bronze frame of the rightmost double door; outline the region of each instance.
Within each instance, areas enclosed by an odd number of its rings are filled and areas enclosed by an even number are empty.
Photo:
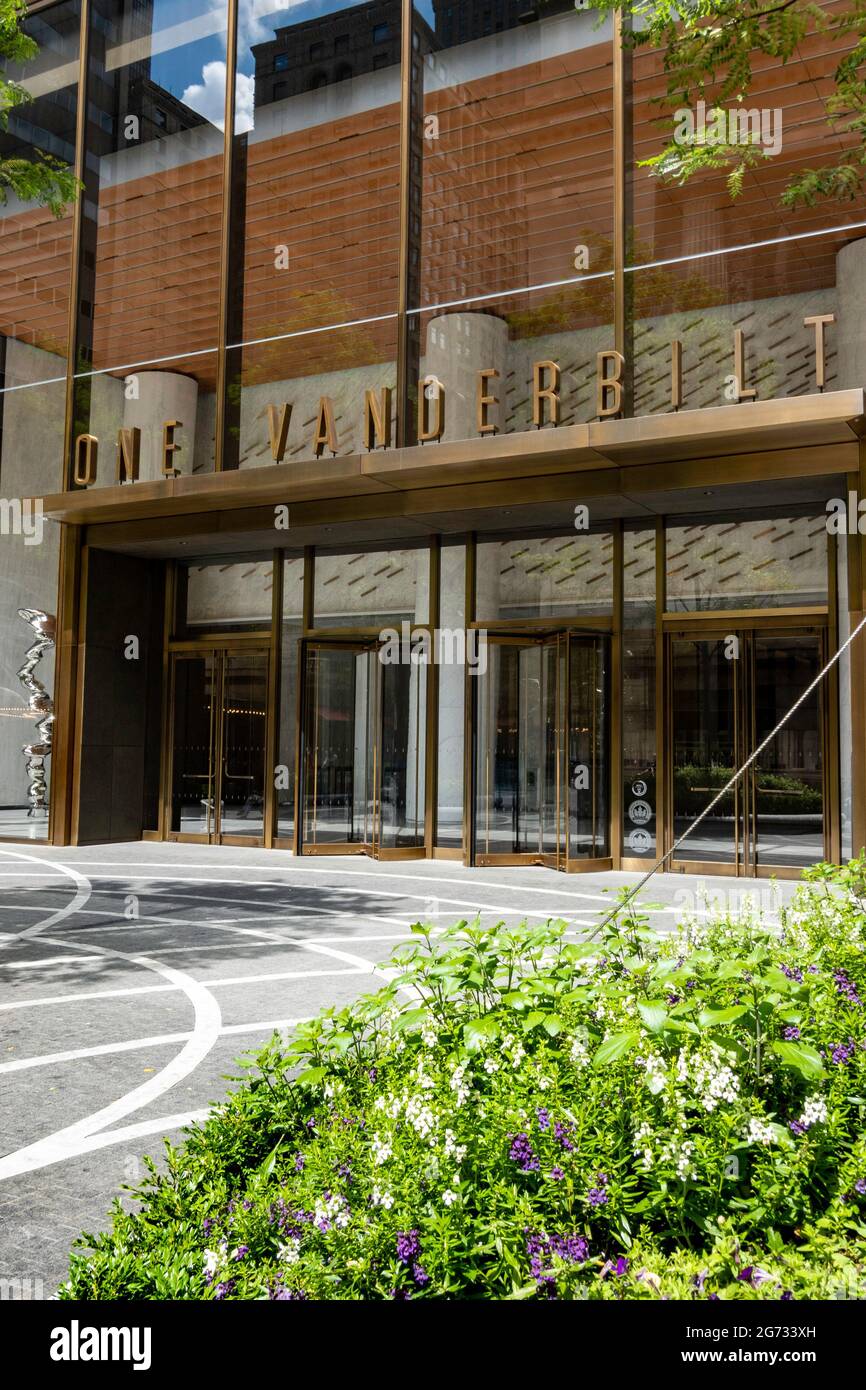
[[[823,667],[830,655],[830,623],[828,616],[808,613],[778,614],[771,612],[762,614],[728,614],[731,621],[724,624],[724,614],[666,614],[664,616],[664,815],[662,823],[663,842],[657,853],[670,851],[674,844],[674,682],[673,682],[673,644],[677,639],[723,642],[730,637],[740,639],[740,659],[735,663],[733,694],[734,694],[734,760],[735,767],[741,767],[746,758],[758,745],[756,733],[756,670],[755,670],[755,638],[766,634],[778,637],[816,638],[819,645],[819,663]],[[838,746],[838,730],[834,720],[838,714],[828,698],[831,687],[820,684],[817,687],[819,717],[817,734],[822,751],[822,815],[823,815],[823,858],[833,858],[834,838],[838,833],[834,788],[833,758]],[[758,777],[759,769],[752,764],[744,777],[735,784],[734,795],[734,855],[726,860],[706,859],[670,859],[666,865],[669,873],[696,873],[721,874],[737,878],[799,878],[802,867],[790,865],[767,865],[758,862]],[[708,801],[714,791],[708,791]],[[685,847],[684,847],[685,848]]]

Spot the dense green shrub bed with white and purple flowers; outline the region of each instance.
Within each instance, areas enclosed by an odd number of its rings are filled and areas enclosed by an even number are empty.
[[[866,862],[806,877],[781,929],[413,927],[61,1297],[862,1297]]]

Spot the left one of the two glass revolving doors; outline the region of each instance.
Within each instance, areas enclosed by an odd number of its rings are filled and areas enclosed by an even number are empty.
[[[304,853],[424,853],[427,667],[384,656],[304,644]]]

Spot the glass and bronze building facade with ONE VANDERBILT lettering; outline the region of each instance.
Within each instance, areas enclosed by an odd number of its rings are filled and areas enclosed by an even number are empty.
[[[82,190],[0,206],[0,835],[648,867],[866,609],[866,206],[780,202],[851,40],[756,61],[731,199],[557,0],[25,28],[0,154]],[[865,695],[671,867],[858,852]]]

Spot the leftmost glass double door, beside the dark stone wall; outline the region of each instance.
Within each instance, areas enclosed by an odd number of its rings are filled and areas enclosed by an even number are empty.
[[[170,837],[264,844],[268,653],[177,652]]]

